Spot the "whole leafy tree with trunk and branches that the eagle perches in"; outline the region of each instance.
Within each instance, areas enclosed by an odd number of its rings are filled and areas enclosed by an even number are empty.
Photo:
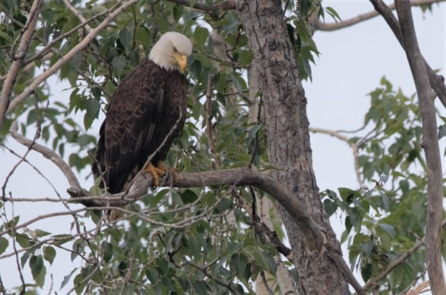
[[[15,256],[19,270],[33,276],[28,282],[20,271],[19,292],[31,292],[27,284],[46,287],[47,266],[68,251],[80,265],[65,270],[61,287],[78,294],[254,294],[260,285],[283,294],[350,294],[349,286],[358,294],[399,294],[424,280],[426,268],[433,293],[445,294],[438,138],[446,119],[439,117],[437,128],[433,109],[433,91],[446,102],[445,84],[417,49],[410,3],[397,1],[398,20],[382,2],[371,3],[406,49],[420,103],[383,78],[370,93],[365,133],[347,137],[309,129],[307,119],[301,80],[311,79],[318,55],[312,34],[325,26],[319,18],[339,19],[321,1],[2,2],[2,138],[10,134],[44,154],[70,182],[70,198],[17,198],[8,178],[28,153],[3,182],[0,258]],[[119,79],[164,31],[194,41],[188,119],[168,158],[178,182],[168,175],[163,187],[150,189],[151,178],[141,174],[118,196],[91,179],[82,189],[74,171],[89,170],[93,161],[91,126]],[[69,103],[41,85],[52,75],[69,83]],[[31,140],[24,135],[33,127]],[[348,142],[358,180],[372,189],[320,193],[310,130]],[[20,200],[66,209],[21,221],[13,210]],[[121,205],[128,205],[123,220],[108,223],[103,210]],[[275,205],[279,214],[269,209]],[[425,205],[427,212],[407,209]],[[350,266],[328,221],[335,212],[345,218],[341,243],[349,243]],[[75,233],[35,225],[57,215],[72,216]],[[424,244],[426,259],[417,251]]]

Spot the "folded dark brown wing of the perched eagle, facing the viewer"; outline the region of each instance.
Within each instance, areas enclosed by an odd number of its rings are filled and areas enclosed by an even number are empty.
[[[141,63],[119,84],[100,129],[96,160],[110,193],[119,193],[129,175],[145,162],[153,132],[160,123],[165,71]],[[95,171],[96,170],[96,171]],[[99,171],[93,168],[95,175]]]

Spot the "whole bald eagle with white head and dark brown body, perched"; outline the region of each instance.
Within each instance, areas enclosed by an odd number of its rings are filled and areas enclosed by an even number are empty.
[[[138,65],[116,88],[102,126],[93,164],[95,177],[109,193],[127,189],[141,170],[155,186],[167,172],[162,164],[183,129],[188,83],[183,71],[192,43],[183,34],[164,33],[148,60]],[[151,157],[150,164],[146,161]]]

